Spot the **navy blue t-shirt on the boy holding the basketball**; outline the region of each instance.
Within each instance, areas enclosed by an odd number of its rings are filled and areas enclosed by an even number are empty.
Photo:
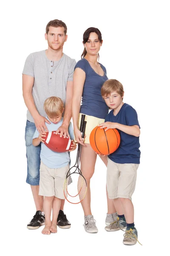
[[[122,105],[122,108],[116,116],[113,115],[113,110],[111,110],[106,116],[105,122],[117,122],[122,125],[139,126],[136,110],[126,103]],[[120,134],[120,145],[119,148],[108,155],[108,157],[115,163],[140,163],[141,152],[139,150],[139,137],[126,134],[119,129],[117,130]]]

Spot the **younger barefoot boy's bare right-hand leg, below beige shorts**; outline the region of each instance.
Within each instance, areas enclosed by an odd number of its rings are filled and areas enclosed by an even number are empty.
[[[59,209],[61,206],[61,199],[57,198],[54,196],[53,199],[53,218],[52,218],[52,223],[51,223],[51,227],[50,227],[50,231],[51,233],[57,233],[57,217],[59,214]]]

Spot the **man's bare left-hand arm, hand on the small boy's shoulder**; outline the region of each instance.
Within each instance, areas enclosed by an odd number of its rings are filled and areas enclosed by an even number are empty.
[[[35,126],[37,130],[42,133],[48,131],[45,122],[50,123],[45,117],[40,116],[34,103],[34,98],[32,96],[32,88],[34,85],[34,77],[23,75],[23,98],[24,102],[34,118]]]

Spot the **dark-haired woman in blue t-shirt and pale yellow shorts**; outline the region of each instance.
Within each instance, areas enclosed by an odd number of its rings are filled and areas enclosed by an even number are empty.
[[[74,123],[74,135],[78,143],[84,145],[81,154],[81,171],[88,183],[88,189],[84,200],[82,201],[82,208],[85,214],[85,231],[88,233],[97,233],[96,221],[91,214],[91,192],[90,179],[94,174],[94,167],[96,163],[96,153],[91,148],[89,136],[96,125],[105,122],[105,116],[108,114],[108,106],[101,96],[102,84],[108,80],[106,76],[105,67],[100,64],[99,50],[102,46],[102,35],[97,28],[88,28],[83,35],[84,51],[81,60],[77,62],[74,69],[74,96],[72,100],[72,116]],[[82,105],[80,103],[82,99]],[[83,143],[79,125],[81,121],[81,114],[85,114],[85,121],[87,125],[85,128],[85,140]],[[101,157],[102,161],[107,166],[107,156]],[[107,189],[106,189],[107,191]],[[108,199],[108,213],[106,217],[106,224],[109,225],[116,220],[116,209],[113,200]]]

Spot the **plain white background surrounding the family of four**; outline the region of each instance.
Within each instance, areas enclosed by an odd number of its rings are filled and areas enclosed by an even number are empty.
[[[169,242],[169,1],[8,1],[1,6],[1,250],[2,255],[150,255],[164,253]],[[26,106],[22,71],[31,52],[47,49],[46,24],[68,27],[65,54],[78,61],[82,35],[91,26],[102,32],[100,62],[109,79],[118,79],[124,102],[136,109],[141,126],[141,164],[133,194],[139,241],[122,244],[123,232],[106,232],[106,168],[97,159],[91,179],[91,208],[97,234],[86,233],[81,205],[65,202],[71,229],[41,234],[28,230],[35,214],[26,184],[24,141]],[[76,152],[71,154],[72,164]]]

